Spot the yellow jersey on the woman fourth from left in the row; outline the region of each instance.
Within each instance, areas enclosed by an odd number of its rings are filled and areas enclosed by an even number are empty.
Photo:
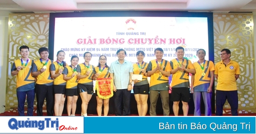
[[[74,70],[70,66],[66,66],[62,73],[67,75],[67,77],[71,77]],[[77,89],[77,83],[77,76],[75,75],[73,78],[67,80],[66,89]]]

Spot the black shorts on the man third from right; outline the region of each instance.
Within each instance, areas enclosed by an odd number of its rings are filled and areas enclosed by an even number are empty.
[[[190,88],[172,88],[171,101],[190,102]]]

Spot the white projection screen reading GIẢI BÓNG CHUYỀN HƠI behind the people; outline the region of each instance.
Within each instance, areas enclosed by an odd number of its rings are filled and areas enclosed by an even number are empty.
[[[92,53],[90,64],[97,65],[105,55],[107,64],[117,60],[116,51],[124,49],[125,59],[136,63],[136,52],[144,51],[144,62],[155,59],[155,48],[162,48],[163,59],[175,58],[175,48],[185,49],[184,57],[196,62],[196,51],[204,49],[206,59],[214,61],[213,14],[189,12],[83,12],[50,13],[49,58],[57,51],[66,53],[70,65],[73,55],[84,62],[83,54]],[[171,80],[171,79],[170,79]]]

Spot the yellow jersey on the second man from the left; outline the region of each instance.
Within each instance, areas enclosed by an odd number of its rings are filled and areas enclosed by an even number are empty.
[[[42,62],[45,64],[46,62]],[[40,59],[36,60],[32,66],[32,72],[39,71],[44,65],[40,62]],[[51,78],[51,73],[50,73],[50,65],[53,63],[52,60],[49,59],[48,63],[46,64],[46,70],[38,75],[36,77],[36,83],[37,84],[46,84],[46,85],[52,85],[53,84],[53,79]]]

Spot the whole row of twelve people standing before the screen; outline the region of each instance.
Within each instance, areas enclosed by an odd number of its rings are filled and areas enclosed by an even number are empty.
[[[18,113],[24,114],[24,104],[27,96],[27,115],[32,116],[34,98],[37,100],[37,115],[43,115],[43,103],[47,102],[47,115],[61,116],[67,96],[67,115],[74,116],[78,96],[81,96],[81,115],[87,116],[87,108],[94,93],[93,81],[98,78],[112,78],[115,100],[115,115],[130,115],[130,96],[134,90],[138,114],[145,116],[148,112],[148,94],[150,99],[151,116],[156,116],[156,102],[160,95],[163,115],[169,115],[169,89],[173,101],[174,115],[178,115],[179,103],[182,102],[183,115],[188,115],[190,93],[195,103],[194,115],[201,115],[201,95],[205,105],[205,115],[211,115],[211,97],[214,74],[217,78],[216,88],[216,115],[222,115],[223,105],[228,99],[232,115],[238,115],[238,95],[236,80],[239,77],[239,64],[229,57],[228,49],[221,51],[222,61],[214,65],[205,60],[206,52],[199,49],[196,52],[198,62],[184,58],[184,48],[177,47],[176,58],[171,61],[163,59],[162,48],[155,49],[156,59],[146,63],[143,61],[145,53],[137,51],[137,63],[132,64],[125,60],[126,51],[119,49],[116,52],[118,59],[107,65],[107,57],[101,55],[97,66],[91,65],[92,54],[85,52],[84,62],[78,64],[79,57],[71,57],[71,65],[64,62],[65,52],[57,52],[57,60],[48,58],[49,50],[46,47],[39,49],[40,59],[34,61],[28,58],[29,48],[20,47],[21,58],[14,61],[11,74],[17,78]],[[142,79],[133,79],[132,75],[141,75]],[[191,83],[189,82],[189,74]],[[168,77],[172,75],[171,88]],[[150,81],[148,82],[148,77]],[[108,115],[109,98],[97,96],[97,113]],[[123,107],[122,107],[123,106]]]

